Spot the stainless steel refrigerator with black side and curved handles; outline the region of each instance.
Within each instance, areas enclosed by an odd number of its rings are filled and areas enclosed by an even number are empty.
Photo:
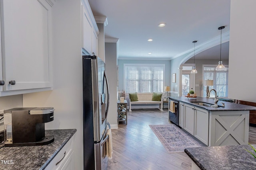
[[[109,88],[105,63],[97,56],[84,55],[83,61],[83,135],[84,170],[105,170]]]

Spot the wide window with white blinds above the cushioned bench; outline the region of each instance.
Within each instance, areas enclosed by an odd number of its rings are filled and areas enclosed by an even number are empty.
[[[124,89],[129,92],[163,92],[164,64],[124,64]]]

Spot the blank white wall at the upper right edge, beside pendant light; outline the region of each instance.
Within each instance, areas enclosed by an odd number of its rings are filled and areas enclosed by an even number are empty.
[[[228,98],[256,102],[256,0],[230,2]]]

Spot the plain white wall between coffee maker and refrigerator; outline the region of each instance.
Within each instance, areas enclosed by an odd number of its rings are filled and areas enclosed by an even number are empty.
[[[53,15],[54,90],[23,95],[24,107],[54,107],[54,121],[46,129],[77,129],[74,164],[83,169],[81,1],[59,0]]]

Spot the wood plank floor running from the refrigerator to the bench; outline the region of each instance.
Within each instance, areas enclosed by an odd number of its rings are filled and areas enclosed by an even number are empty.
[[[112,129],[113,155],[108,170],[189,170],[191,159],[185,152],[169,154],[148,125],[164,125],[168,110],[133,109],[128,123]],[[250,127],[249,143],[256,144],[256,127]]]

